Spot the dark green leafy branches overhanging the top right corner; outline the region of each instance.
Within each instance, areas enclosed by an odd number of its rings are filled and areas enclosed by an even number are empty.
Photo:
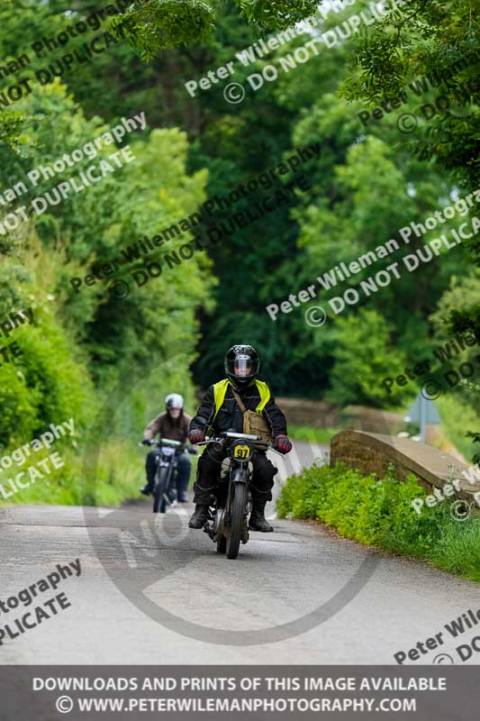
[[[354,51],[345,94],[377,104],[408,83],[428,78],[466,114],[447,112],[428,123],[412,148],[453,169],[466,187],[480,179],[476,129],[479,111],[480,18],[470,0],[410,0],[368,29]]]

